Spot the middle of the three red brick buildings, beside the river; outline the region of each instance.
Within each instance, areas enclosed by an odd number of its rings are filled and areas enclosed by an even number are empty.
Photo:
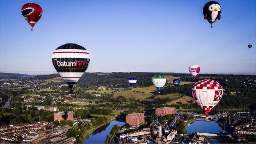
[[[144,123],[144,113],[132,113],[126,116],[126,123],[130,126],[139,126]]]

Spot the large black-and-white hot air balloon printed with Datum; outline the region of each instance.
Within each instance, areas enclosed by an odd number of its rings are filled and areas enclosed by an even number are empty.
[[[73,85],[89,66],[90,55],[84,47],[75,43],[66,43],[54,50],[52,61],[54,68],[69,85],[72,93]]]

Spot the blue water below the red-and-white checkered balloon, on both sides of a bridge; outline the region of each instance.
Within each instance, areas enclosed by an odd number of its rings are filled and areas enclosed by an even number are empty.
[[[187,126],[187,133],[201,132],[201,133],[220,133],[222,127],[217,122],[210,121],[194,121]],[[218,139],[210,139],[213,144],[219,144]]]

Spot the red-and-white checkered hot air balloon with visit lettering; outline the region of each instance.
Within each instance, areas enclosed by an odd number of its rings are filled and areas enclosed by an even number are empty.
[[[192,96],[206,116],[219,103],[222,95],[222,86],[215,80],[199,80],[192,86]]]

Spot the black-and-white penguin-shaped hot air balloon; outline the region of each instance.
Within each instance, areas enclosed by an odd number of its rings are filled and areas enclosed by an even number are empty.
[[[218,19],[220,20],[220,13],[222,11],[222,7],[218,2],[210,1],[207,2],[203,6],[203,16],[213,27],[213,23]]]

